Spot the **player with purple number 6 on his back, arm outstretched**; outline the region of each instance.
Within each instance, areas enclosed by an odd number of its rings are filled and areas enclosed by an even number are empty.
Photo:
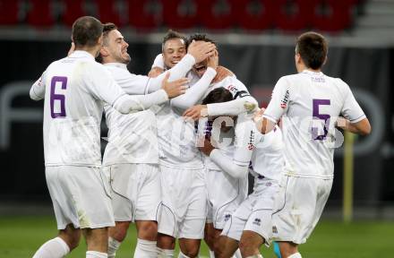
[[[103,102],[122,114],[143,110],[150,102],[127,95],[95,62],[102,30],[93,17],[77,19],[72,32],[75,51],[50,64],[30,90],[31,99],[45,99],[46,178],[59,229],[34,257],[64,257],[78,245],[81,231],[88,245],[86,257],[107,257],[107,227],[115,221],[109,185],[100,170]]]

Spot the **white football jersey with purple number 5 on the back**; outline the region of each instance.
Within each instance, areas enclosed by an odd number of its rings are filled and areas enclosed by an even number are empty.
[[[278,80],[263,116],[275,123],[282,117],[287,174],[333,176],[334,148],[341,143],[334,142],[333,123],[340,114],[351,123],[365,118],[342,80],[307,70]]]

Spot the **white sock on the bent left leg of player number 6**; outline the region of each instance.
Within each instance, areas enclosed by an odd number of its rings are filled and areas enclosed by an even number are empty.
[[[41,245],[36,254],[33,255],[33,258],[60,258],[68,253],[70,253],[70,247],[65,244],[62,238],[57,236]]]

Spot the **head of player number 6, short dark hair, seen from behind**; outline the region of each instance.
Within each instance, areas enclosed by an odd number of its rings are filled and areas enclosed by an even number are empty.
[[[94,47],[103,34],[103,24],[91,16],[82,16],[73,23],[75,47]]]

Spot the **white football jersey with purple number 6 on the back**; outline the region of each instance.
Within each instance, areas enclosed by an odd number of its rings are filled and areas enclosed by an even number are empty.
[[[85,51],[74,51],[47,67],[30,90],[44,103],[46,166],[101,166],[100,122],[103,100],[125,94],[111,74]]]

